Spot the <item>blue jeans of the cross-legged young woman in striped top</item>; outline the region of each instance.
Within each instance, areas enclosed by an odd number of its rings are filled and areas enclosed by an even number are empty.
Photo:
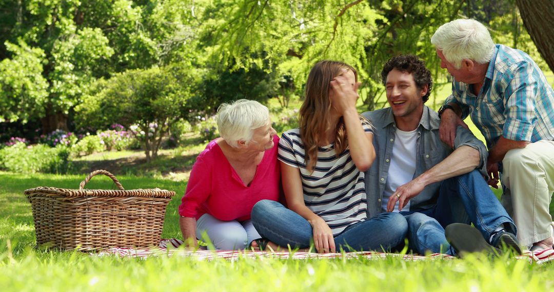
[[[252,208],[252,223],[264,238],[286,247],[309,248],[313,242],[310,223],[279,202],[261,200]],[[337,251],[389,251],[404,242],[408,223],[398,213],[382,213],[348,226],[335,237]]]

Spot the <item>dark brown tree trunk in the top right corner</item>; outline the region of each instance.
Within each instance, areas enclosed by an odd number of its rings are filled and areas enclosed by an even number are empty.
[[[554,71],[554,1],[516,0],[521,19],[550,70]]]

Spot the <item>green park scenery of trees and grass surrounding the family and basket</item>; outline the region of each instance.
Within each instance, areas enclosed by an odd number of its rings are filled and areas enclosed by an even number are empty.
[[[358,70],[360,112],[386,107],[382,65],[409,53],[432,71],[426,104],[437,109],[450,83],[429,40],[456,18],[477,19],[496,43],[530,54],[552,85],[552,13],[550,0],[0,0],[0,286],[552,290],[550,264],[509,257],[199,262],[44,251],[34,249],[23,195],[36,186],[76,189],[90,171],[107,169],[126,189],[176,191],[162,237],[182,238],[177,207],[194,159],[218,136],[214,114],[221,103],[258,100],[281,133],[297,126],[311,66],[332,59]],[[113,186],[95,178],[88,187]]]

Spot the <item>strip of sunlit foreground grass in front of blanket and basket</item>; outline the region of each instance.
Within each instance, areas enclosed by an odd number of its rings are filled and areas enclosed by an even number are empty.
[[[548,267],[522,260],[96,258],[27,249],[0,254],[0,285],[38,291],[543,291]],[[28,281],[26,279],[33,279]]]

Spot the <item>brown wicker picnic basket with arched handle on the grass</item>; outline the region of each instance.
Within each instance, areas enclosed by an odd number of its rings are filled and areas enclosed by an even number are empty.
[[[85,189],[97,174],[109,176],[119,190]],[[25,195],[33,209],[38,245],[94,251],[157,245],[175,192],[125,190],[109,171],[96,170],[81,181],[78,190],[36,187],[25,190]]]

